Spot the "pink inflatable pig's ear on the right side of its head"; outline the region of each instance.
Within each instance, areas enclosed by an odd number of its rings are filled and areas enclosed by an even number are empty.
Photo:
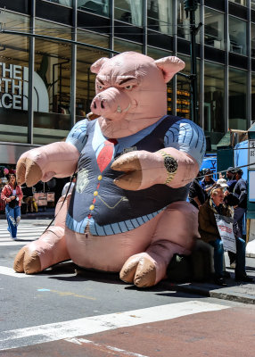
[[[175,56],[160,58],[160,60],[155,61],[155,64],[162,71],[165,83],[168,83],[178,71],[185,68],[185,62]]]

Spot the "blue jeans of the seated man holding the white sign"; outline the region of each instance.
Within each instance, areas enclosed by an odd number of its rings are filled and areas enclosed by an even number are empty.
[[[245,274],[245,241],[237,237],[236,241],[236,266],[235,276],[243,276]],[[217,238],[215,241],[210,241],[210,245],[214,248],[214,270],[217,278],[222,277],[224,248],[222,240]]]

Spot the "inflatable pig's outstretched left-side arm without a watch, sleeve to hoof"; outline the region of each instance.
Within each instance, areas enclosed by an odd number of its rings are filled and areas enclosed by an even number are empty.
[[[21,155],[17,163],[18,182],[35,185],[39,180],[65,178],[76,170],[79,154],[86,144],[87,120],[78,121],[65,142],[38,147]]]

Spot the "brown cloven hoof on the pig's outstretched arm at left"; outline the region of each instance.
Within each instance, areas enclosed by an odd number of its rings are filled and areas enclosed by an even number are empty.
[[[33,152],[33,150],[35,150],[36,153]],[[44,176],[43,171],[37,163],[40,156],[39,149],[33,150],[22,154],[17,162],[17,182],[19,185],[26,182],[28,187],[32,187]]]

